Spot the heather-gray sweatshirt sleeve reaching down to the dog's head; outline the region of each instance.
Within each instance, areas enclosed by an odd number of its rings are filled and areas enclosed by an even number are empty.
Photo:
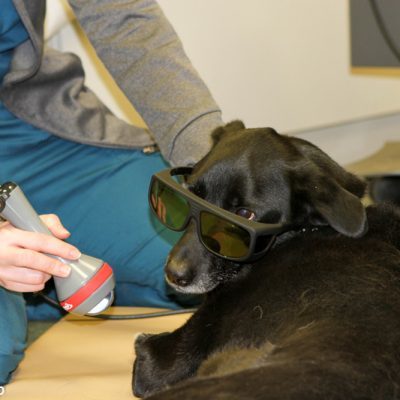
[[[97,54],[173,165],[206,154],[221,112],[154,0],[69,0]]]

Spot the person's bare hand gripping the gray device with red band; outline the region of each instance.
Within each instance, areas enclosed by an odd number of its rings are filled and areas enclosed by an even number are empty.
[[[55,237],[0,223],[0,286],[15,292],[37,292],[52,275],[66,277],[71,268],[44,253],[70,260],[80,257],[76,247],[60,240],[70,233],[59,218],[54,214],[41,218]]]

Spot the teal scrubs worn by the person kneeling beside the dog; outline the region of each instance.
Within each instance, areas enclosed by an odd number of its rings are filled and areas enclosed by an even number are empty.
[[[28,39],[11,0],[1,1],[0,82],[13,49]],[[159,153],[107,149],[63,140],[11,114],[0,103],[0,183],[21,186],[39,214],[55,213],[68,241],[107,261],[117,280],[116,305],[177,308],[163,264],[177,235],[149,213],[151,175],[166,167]],[[51,283],[51,281],[50,281]],[[47,289],[54,297],[51,284]],[[23,357],[28,319],[62,313],[38,296],[0,287],[0,385]]]

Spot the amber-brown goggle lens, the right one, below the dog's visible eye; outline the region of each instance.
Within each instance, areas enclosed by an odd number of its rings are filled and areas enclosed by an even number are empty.
[[[204,245],[223,257],[241,258],[249,253],[249,232],[217,215],[202,211],[200,232]]]

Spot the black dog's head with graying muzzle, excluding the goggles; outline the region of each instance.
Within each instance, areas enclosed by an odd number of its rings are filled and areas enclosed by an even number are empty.
[[[271,128],[246,129],[240,121],[216,129],[213,138],[212,150],[188,181],[198,196],[260,222],[330,225],[350,237],[366,232],[360,201],[365,183],[316,146]],[[194,225],[192,220],[165,267],[176,290],[209,292],[251,268],[209,253]]]

